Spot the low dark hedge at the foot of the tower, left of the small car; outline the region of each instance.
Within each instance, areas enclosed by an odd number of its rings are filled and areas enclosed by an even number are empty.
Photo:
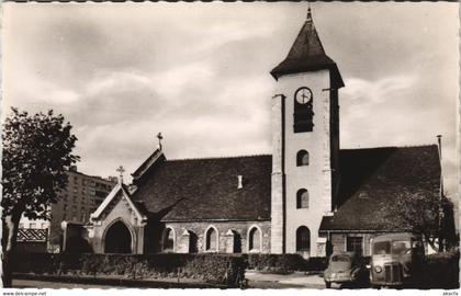
[[[325,258],[304,259],[300,254],[244,254],[250,270],[289,273],[293,271],[323,271],[327,266]]]

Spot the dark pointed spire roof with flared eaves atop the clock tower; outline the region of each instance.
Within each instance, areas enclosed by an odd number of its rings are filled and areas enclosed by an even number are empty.
[[[330,70],[333,88],[345,86],[336,62],[325,54],[310,11],[288,56],[270,73],[279,79],[283,75],[321,69]]]

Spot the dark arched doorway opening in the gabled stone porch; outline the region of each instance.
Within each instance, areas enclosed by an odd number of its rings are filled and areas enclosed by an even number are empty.
[[[105,232],[104,253],[132,253],[132,235],[122,221],[114,223]]]

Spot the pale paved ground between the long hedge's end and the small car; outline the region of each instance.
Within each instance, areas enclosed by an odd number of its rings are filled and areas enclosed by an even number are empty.
[[[271,274],[257,271],[246,271],[245,277],[250,287],[267,288],[325,288],[322,274],[307,274],[304,272],[293,272],[291,274]]]

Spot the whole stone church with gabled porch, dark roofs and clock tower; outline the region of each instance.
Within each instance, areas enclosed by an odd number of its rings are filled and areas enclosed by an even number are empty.
[[[440,194],[438,146],[340,149],[345,83],[311,11],[270,75],[272,155],[169,160],[159,145],[91,214],[95,253],[368,255],[373,236],[412,229],[385,205]]]

